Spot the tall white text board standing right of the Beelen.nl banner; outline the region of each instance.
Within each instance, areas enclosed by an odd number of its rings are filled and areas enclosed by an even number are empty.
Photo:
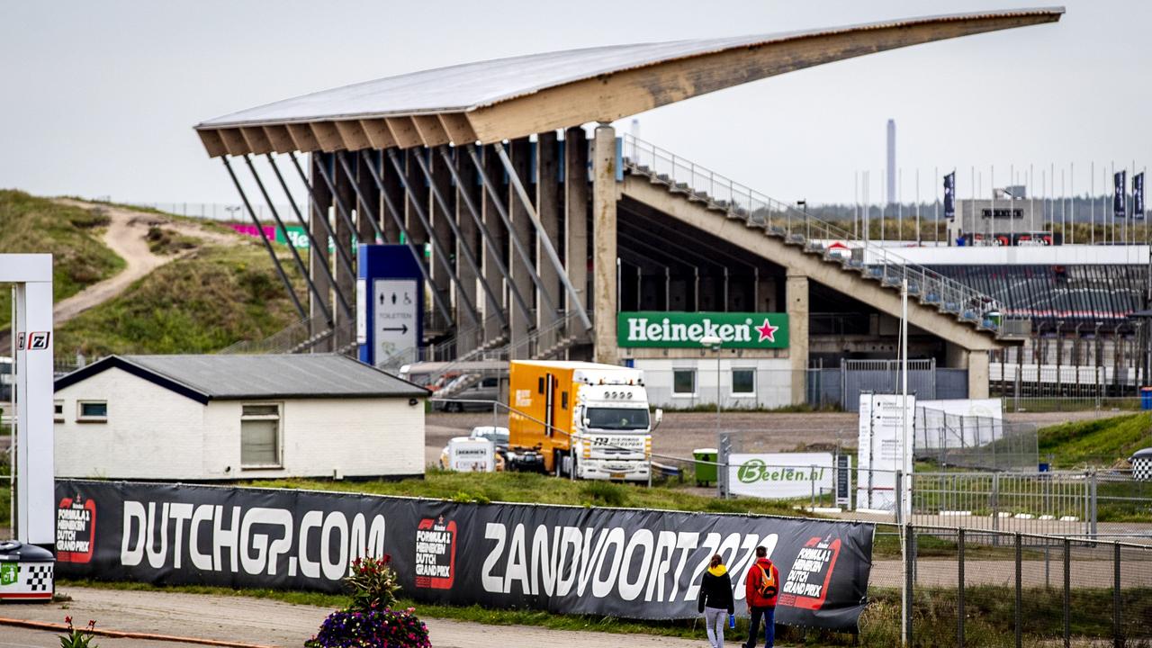
[[[861,394],[859,469],[856,476],[856,507],[881,511],[896,508],[896,470],[912,472],[912,424],[916,397],[907,402],[897,394]],[[907,443],[904,424],[907,421]],[[911,480],[904,480],[904,513],[911,511]]]

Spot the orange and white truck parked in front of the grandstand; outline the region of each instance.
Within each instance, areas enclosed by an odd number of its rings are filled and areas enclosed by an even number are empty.
[[[614,364],[514,360],[508,468],[582,480],[649,480],[652,430],[644,372]]]

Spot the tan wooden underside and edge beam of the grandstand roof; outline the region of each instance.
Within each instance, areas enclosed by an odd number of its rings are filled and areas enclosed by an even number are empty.
[[[493,143],[589,122],[611,122],[717,90],[864,54],[1055,22],[1062,13],[1023,9],[935,16],[765,37],[763,42],[669,56],[578,81],[558,81],[491,103],[477,99],[472,107],[446,107],[439,113],[414,106],[411,113],[314,119],[302,115],[287,125],[255,120],[202,125],[198,130],[212,157],[282,152],[289,138],[302,152]],[[285,128],[288,137],[262,135],[262,127]]]

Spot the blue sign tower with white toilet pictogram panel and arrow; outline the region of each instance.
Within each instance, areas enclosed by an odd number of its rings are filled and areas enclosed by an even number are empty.
[[[424,280],[404,244],[361,244],[356,278],[359,361],[377,364],[400,353],[419,357],[424,339]]]

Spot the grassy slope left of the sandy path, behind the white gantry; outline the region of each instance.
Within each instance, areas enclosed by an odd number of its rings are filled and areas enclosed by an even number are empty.
[[[60,301],[112,277],[124,259],[100,240],[107,217],[0,189],[0,254],[52,254],[52,296]],[[0,329],[8,326],[12,295],[0,291]]]

